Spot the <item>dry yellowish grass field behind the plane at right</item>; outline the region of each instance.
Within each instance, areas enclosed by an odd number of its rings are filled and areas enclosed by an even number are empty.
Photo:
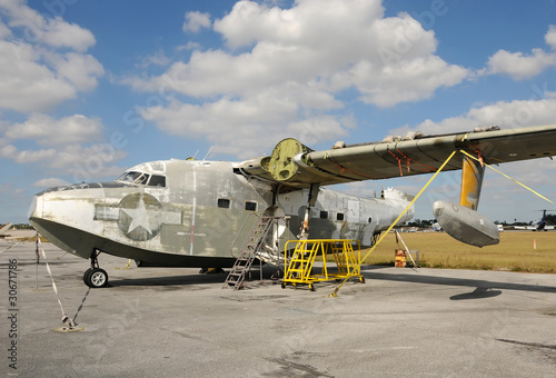
[[[445,232],[400,235],[409,250],[419,251],[420,267],[556,272],[556,231],[500,232],[498,245],[483,248],[461,243]],[[389,233],[363,263],[394,266],[395,249],[404,246]],[[368,249],[361,250],[361,258],[367,252]]]

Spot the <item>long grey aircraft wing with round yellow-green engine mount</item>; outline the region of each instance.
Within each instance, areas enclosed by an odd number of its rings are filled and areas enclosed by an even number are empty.
[[[454,150],[464,150],[486,163],[552,157],[556,155],[556,125],[416,135],[380,142],[340,145],[322,151],[314,151],[295,139],[285,139],[270,157],[245,161],[239,168],[248,175],[299,188],[311,183],[332,185],[430,173]],[[453,159],[445,167],[445,170],[457,169],[461,169],[461,159]]]

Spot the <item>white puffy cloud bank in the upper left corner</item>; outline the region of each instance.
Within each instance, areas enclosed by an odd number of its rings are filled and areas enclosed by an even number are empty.
[[[95,44],[90,31],[19,1],[0,2],[0,13],[8,19],[0,24],[0,108],[44,111],[97,87],[105,70],[83,53]]]

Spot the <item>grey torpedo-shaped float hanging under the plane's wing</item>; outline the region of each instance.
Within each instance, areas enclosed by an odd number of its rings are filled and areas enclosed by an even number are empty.
[[[456,240],[476,247],[497,245],[500,241],[498,227],[476,210],[436,201],[433,211],[443,229]]]

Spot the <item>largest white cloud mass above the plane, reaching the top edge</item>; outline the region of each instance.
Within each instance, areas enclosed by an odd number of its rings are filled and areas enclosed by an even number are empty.
[[[188,14],[186,29],[195,31],[199,14]],[[228,49],[195,50],[163,74],[120,82],[160,96],[161,106],[145,109],[145,117],[161,130],[207,138],[215,150],[229,151],[236,136],[234,149],[246,153],[250,146],[252,153],[260,143],[251,132],[276,140],[310,125],[319,132],[297,135],[316,142],[341,137],[346,90],[393,107],[430,98],[469,74],[435,56],[434,32],[409,14],[385,18],[379,0],[299,0],[291,8],[238,1],[214,30]]]

